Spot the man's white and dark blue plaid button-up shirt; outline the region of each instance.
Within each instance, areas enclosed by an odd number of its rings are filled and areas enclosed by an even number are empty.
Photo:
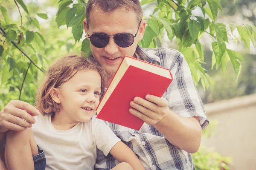
[[[137,46],[138,59],[169,68],[173,81],[163,97],[169,108],[183,117],[199,116],[201,128],[209,124],[204,106],[193,82],[189,66],[183,55],[170,48],[146,48]],[[154,126],[146,123],[139,131],[106,122],[143,163],[145,170],[195,170],[190,153],[172,145]],[[118,164],[111,154],[104,156],[97,151],[95,168],[111,169]]]

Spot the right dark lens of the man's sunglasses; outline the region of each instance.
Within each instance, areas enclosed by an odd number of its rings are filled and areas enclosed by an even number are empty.
[[[125,48],[133,44],[134,36],[132,34],[119,34],[115,35],[114,40],[116,42],[116,45]]]

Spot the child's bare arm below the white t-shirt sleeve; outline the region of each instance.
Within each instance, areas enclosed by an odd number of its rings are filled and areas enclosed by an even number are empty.
[[[119,162],[127,162],[134,170],[145,170],[143,164],[137,158],[135,153],[123,142],[117,142],[110,150],[111,155]]]

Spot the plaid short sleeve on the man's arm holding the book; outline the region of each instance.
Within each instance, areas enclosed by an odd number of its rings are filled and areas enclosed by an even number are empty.
[[[173,81],[166,91],[169,108],[183,117],[199,116],[203,130],[208,126],[209,120],[192,79],[189,65],[181,53],[177,52],[175,58],[169,63],[173,76]]]

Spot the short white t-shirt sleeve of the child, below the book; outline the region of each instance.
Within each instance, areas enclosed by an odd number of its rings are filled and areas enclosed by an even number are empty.
[[[121,141],[103,120],[96,119],[96,115],[92,118],[92,130],[96,146],[105,156],[117,142]]]

